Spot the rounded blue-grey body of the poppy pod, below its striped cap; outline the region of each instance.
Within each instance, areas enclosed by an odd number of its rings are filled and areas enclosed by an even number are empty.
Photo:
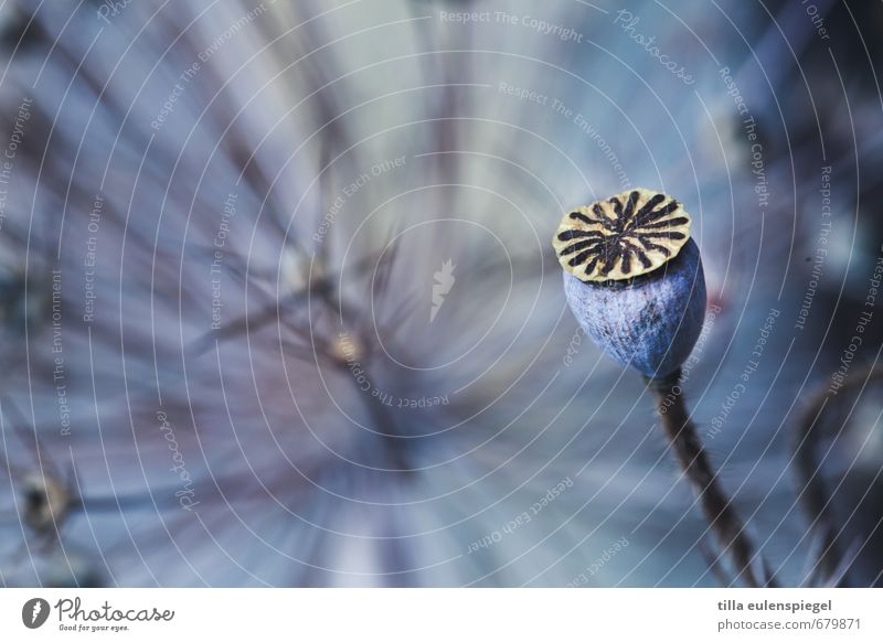
[[[586,334],[648,377],[678,371],[705,319],[705,278],[693,239],[663,266],[628,281],[584,282],[565,271],[564,292]]]

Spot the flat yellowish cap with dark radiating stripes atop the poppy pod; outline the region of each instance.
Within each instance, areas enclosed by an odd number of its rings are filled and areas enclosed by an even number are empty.
[[[570,212],[552,245],[582,281],[630,279],[660,267],[690,238],[690,215],[660,192],[638,188]]]

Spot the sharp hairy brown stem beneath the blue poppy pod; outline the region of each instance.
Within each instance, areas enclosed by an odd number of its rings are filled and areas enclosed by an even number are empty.
[[[678,464],[693,486],[719,545],[730,554],[738,575],[751,587],[770,586],[772,579],[760,581],[754,573],[754,546],[731,499],[717,483],[716,473],[690,420],[683,395],[674,393],[680,375],[680,371],[677,371],[666,377],[648,381],[662,431],[674,451]]]

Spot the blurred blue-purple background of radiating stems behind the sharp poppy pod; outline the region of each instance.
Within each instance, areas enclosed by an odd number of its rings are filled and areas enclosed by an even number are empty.
[[[563,212],[693,217],[780,584],[881,584],[883,6],[0,4],[4,586],[717,586]],[[725,561],[722,563],[725,566]]]

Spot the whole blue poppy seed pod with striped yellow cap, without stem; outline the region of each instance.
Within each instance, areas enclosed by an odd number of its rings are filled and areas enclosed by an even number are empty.
[[[702,260],[681,204],[625,192],[566,214],[553,245],[586,334],[647,377],[677,373],[705,318]]]

